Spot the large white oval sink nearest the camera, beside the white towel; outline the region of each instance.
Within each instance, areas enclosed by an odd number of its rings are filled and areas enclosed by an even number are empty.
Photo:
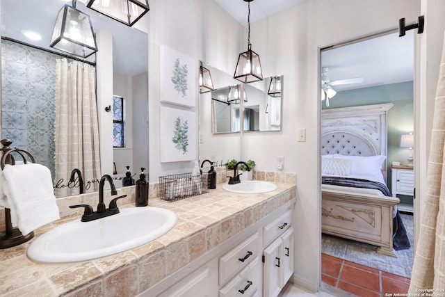
[[[176,225],[173,211],[159,207],[120,209],[119,214],[73,220],[38,236],[28,248],[37,262],[75,262],[123,252],[162,236]]]

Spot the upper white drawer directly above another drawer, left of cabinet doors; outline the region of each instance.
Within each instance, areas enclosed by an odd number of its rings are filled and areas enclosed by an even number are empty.
[[[220,286],[232,278],[238,271],[247,266],[252,259],[259,255],[259,234],[255,232],[248,239],[238,244],[234,249],[220,257],[219,282]]]

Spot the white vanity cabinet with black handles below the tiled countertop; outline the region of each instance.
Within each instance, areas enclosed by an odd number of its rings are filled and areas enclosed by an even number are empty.
[[[140,296],[277,296],[293,274],[294,205],[283,205]]]

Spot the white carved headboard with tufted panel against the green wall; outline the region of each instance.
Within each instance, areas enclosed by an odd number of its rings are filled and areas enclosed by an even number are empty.
[[[387,156],[387,111],[392,103],[321,111],[321,154]],[[387,177],[385,163],[383,175]]]

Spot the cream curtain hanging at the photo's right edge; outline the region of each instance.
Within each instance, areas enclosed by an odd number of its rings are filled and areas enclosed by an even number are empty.
[[[445,289],[445,43],[437,83],[432,122],[428,188],[419,240],[414,255],[410,293],[422,294],[421,289]],[[425,293],[425,291],[423,291]],[[439,294],[444,291],[427,291]],[[417,295],[419,296],[419,295]],[[433,296],[433,295],[427,295]]]

